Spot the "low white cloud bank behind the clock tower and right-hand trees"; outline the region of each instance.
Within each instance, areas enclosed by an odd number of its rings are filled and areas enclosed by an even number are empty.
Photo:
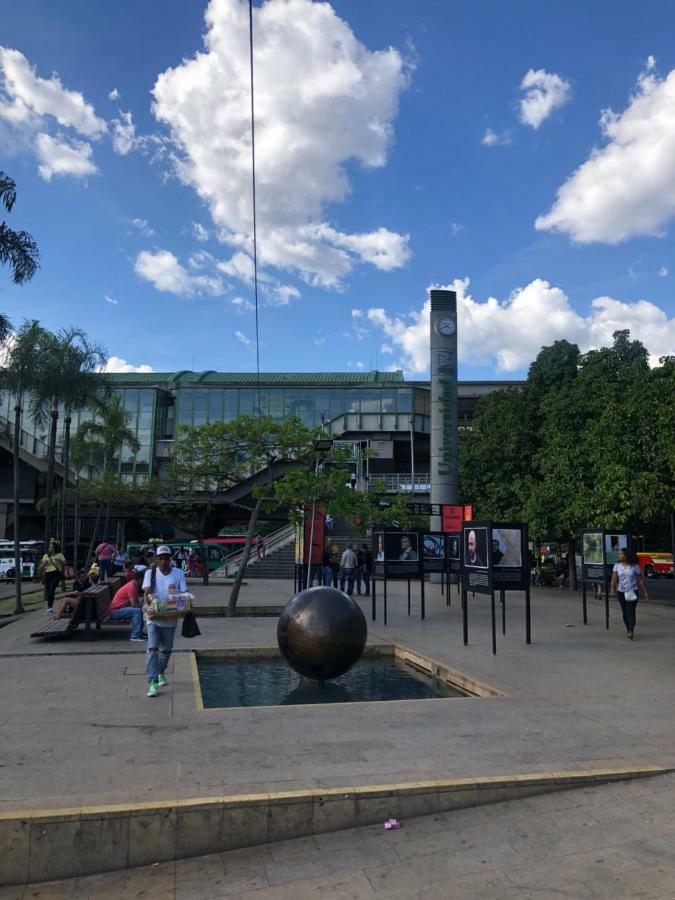
[[[517,372],[553,341],[565,338],[585,351],[611,345],[613,332],[625,328],[643,342],[652,365],[660,356],[675,353],[675,318],[669,319],[647,300],[626,303],[598,297],[583,316],[560,288],[542,279],[501,302],[494,297],[475,300],[468,293],[468,278],[455,279],[447,288],[457,292],[459,357],[465,363],[496,363],[500,372]],[[372,325],[384,333],[400,357],[394,368],[401,366],[413,374],[428,372],[429,308],[427,300],[408,315],[390,316],[382,308],[367,311]]]

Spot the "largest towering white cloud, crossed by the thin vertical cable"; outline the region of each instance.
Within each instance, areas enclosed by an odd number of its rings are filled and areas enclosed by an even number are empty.
[[[401,54],[368,50],[328,3],[267,0],[253,15],[261,265],[327,287],[339,287],[357,261],[401,265],[407,237],[385,228],[349,235],[323,219],[349,194],[349,161],[386,163],[407,84]],[[221,237],[248,253],[247,4],[211,0],[204,43],[158,77],[153,110],[175,143],[179,178],[207,203]]]

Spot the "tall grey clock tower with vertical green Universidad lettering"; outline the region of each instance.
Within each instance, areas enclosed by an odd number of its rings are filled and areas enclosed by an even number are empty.
[[[457,502],[457,294],[431,291],[431,502]],[[440,518],[431,527],[440,531]]]

